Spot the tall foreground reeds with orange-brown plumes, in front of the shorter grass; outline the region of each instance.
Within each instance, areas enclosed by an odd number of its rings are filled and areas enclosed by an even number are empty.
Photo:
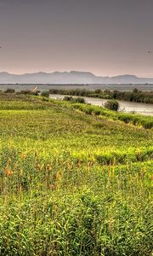
[[[1,255],[150,255],[146,171],[16,154],[1,172]]]

